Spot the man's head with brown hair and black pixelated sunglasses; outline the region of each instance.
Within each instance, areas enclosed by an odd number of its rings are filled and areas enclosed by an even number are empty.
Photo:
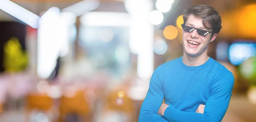
[[[191,56],[207,54],[208,44],[221,30],[221,17],[207,5],[189,7],[183,14],[183,47]]]

